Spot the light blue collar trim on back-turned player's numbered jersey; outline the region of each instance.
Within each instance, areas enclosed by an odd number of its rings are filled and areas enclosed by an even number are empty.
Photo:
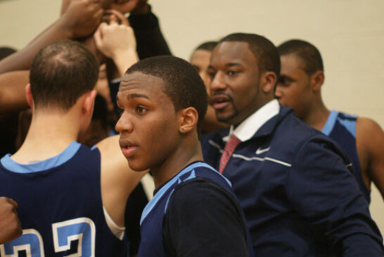
[[[6,154],[3,158],[1,158],[0,162],[7,170],[12,171],[13,173],[37,173],[43,170],[49,170],[51,168],[58,167],[62,165],[66,161],[68,161],[72,156],[75,155],[77,150],[79,150],[81,144],[78,142],[71,142],[69,146],[64,149],[57,156],[53,156],[44,161],[37,161],[36,163],[30,164],[20,164],[16,163],[11,159],[11,154]]]

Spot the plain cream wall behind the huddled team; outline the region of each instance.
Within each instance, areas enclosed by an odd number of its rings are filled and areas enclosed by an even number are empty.
[[[366,116],[384,127],[383,0],[152,0],[175,56],[188,59],[201,42],[233,32],[314,44],[324,59],[326,106]],[[0,46],[25,46],[58,18],[59,0],[0,0]],[[371,214],[384,232],[384,203],[371,194]]]

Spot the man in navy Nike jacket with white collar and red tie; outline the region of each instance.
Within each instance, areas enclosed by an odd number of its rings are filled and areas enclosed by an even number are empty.
[[[343,152],[274,99],[274,44],[228,35],[208,73],[217,118],[231,127],[203,138],[204,159],[231,181],[255,256],[383,256]]]

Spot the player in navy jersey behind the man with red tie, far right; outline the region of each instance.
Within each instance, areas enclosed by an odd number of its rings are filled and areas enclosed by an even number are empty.
[[[384,196],[384,132],[369,118],[329,111],[321,98],[323,60],[308,42],[293,39],[277,47],[281,77],[276,98],[295,110],[297,118],[321,130],[347,151],[361,192],[370,202],[373,181]]]

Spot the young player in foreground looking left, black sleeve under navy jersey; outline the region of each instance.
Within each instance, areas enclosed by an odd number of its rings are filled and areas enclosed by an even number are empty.
[[[207,93],[196,70],[172,56],[139,61],[117,105],[122,153],[132,170],[150,170],[156,188],[141,216],[139,256],[249,256],[231,185],[203,163]]]

